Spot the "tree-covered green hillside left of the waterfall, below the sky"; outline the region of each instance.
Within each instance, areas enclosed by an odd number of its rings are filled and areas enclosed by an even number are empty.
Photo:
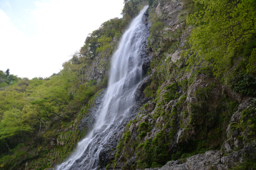
[[[67,158],[86,133],[76,128],[107,85],[110,56],[130,19],[102,23],[50,77],[0,71],[1,169],[45,169]]]

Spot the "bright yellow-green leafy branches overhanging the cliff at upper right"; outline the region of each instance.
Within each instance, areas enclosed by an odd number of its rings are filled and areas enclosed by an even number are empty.
[[[202,62],[210,66],[215,75],[229,71],[237,52],[253,43],[256,33],[256,7],[254,0],[205,1],[195,0],[203,6],[187,17],[187,23],[196,28],[191,32],[191,50],[198,57],[189,59],[190,65]],[[254,54],[252,47],[252,54]],[[255,57],[254,57],[255,58]],[[248,70],[254,68],[255,61],[250,57]]]

